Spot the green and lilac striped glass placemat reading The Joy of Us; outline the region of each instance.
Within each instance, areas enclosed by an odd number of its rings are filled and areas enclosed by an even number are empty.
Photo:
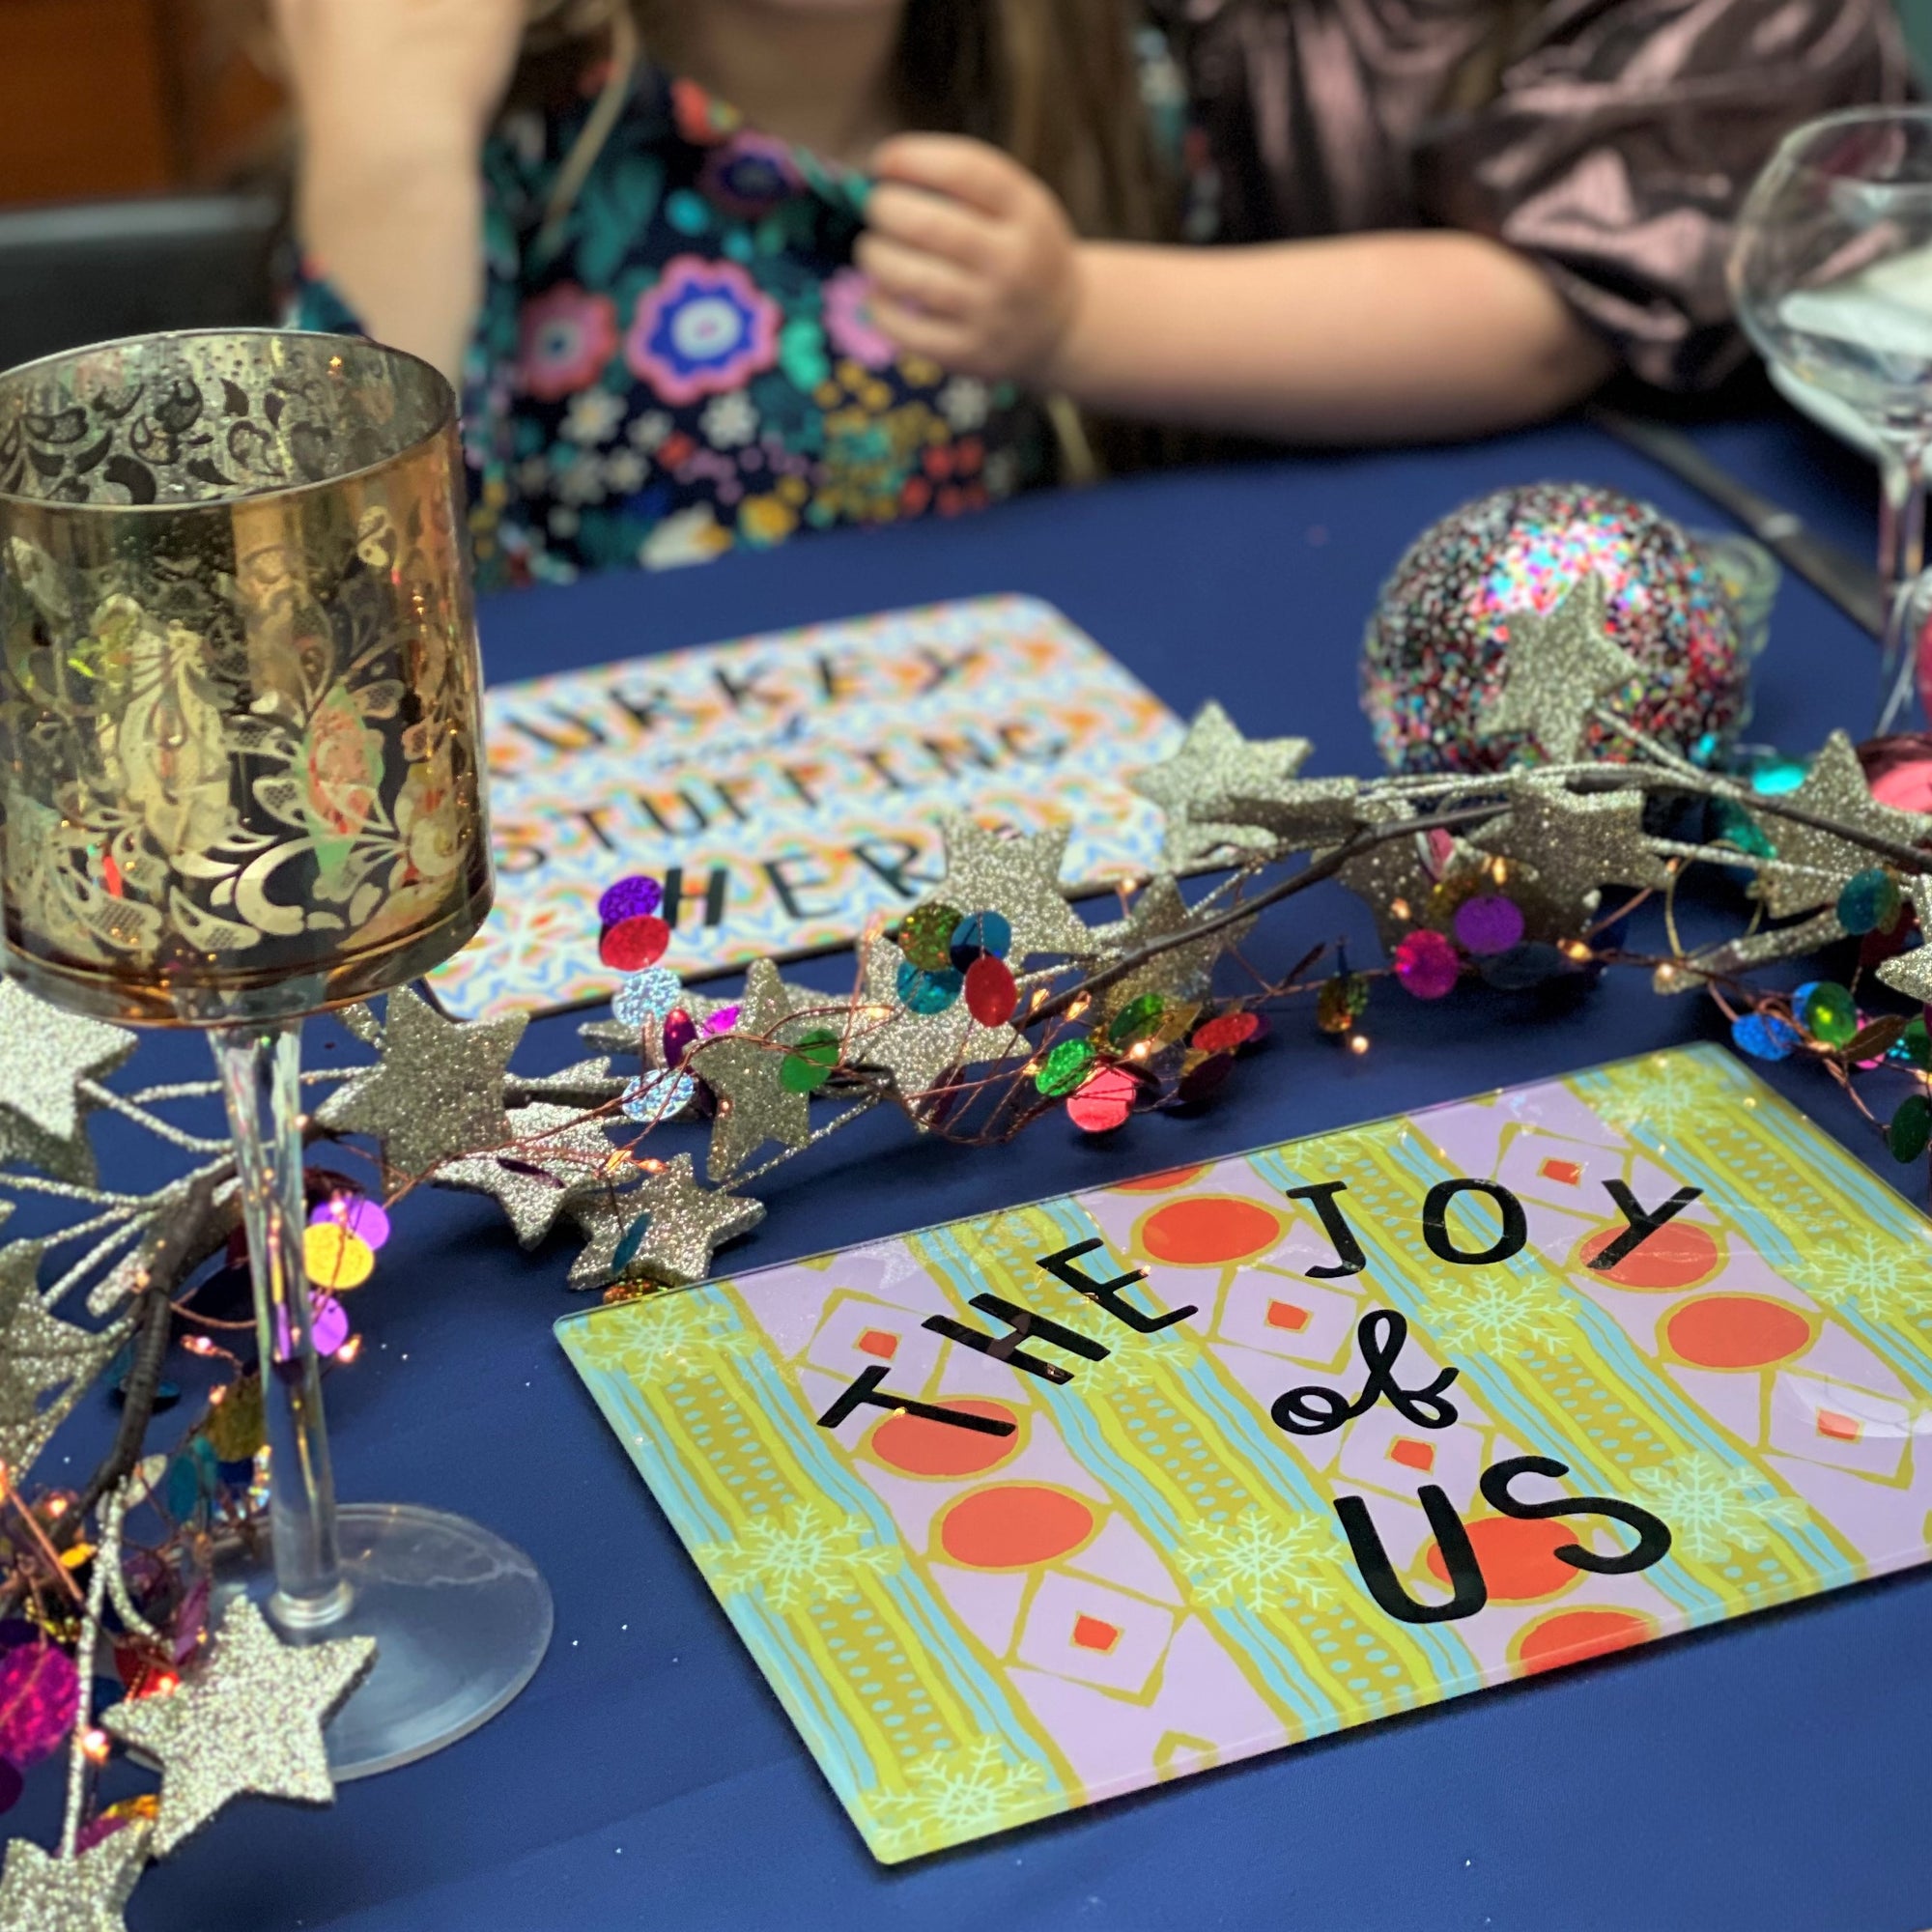
[[[1687,1047],[558,1335],[900,1861],[1922,1561],[1928,1318]]]

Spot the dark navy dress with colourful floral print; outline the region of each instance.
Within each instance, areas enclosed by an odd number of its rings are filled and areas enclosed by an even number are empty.
[[[873,327],[852,267],[869,184],[690,81],[639,73],[543,234],[589,108],[514,112],[483,156],[464,417],[485,589],[956,516],[1049,479],[1030,398],[902,355]],[[294,319],[357,327],[313,265]]]

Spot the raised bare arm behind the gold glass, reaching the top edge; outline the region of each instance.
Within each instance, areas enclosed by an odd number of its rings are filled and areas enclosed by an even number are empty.
[[[301,245],[375,340],[458,384],[481,298],[483,133],[524,17],[524,0],[274,0],[301,110]]]

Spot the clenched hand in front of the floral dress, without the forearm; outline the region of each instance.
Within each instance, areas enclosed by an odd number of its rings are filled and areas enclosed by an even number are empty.
[[[962,135],[896,135],[873,172],[856,259],[879,328],[943,369],[1051,388],[1080,307],[1080,243],[1053,191]]]

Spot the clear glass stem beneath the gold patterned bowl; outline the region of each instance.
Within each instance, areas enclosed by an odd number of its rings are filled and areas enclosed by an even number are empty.
[[[323,1422],[323,1370],[301,1252],[301,1022],[224,1026],[211,1036],[236,1144],[269,1439],[274,1596],[286,1631],[344,1617],[350,1586],[336,1534],[336,1486]]]

